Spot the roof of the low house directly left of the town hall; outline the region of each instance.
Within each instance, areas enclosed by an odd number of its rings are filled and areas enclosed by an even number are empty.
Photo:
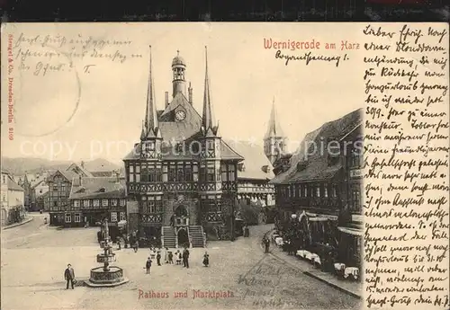
[[[125,180],[116,177],[81,178],[81,185],[72,184],[69,199],[125,198]]]

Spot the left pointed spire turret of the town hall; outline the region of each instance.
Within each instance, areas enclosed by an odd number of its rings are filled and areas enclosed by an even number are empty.
[[[153,84],[153,76],[151,72],[151,46],[149,62],[147,105],[145,111],[145,119],[142,122],[142,131],[140,132],[140,157],[149,160],[160,160],[162,137],[157,120],[157,102],[155,100],[155,86]]]

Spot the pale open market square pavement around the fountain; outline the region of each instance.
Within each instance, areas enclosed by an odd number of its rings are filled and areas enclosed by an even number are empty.
[[[29,237],[23,233],[2,236],[6,244],[2,249],[4,309],[359,308],[355,297],[264,254],[259,242],[269,226],[252,227],[250,238],[234,243],[211,242],[207,249],[193,249],[189,269],[154,263],[147,275],[148,250],[122,249],[116,251],[116,265],[124,269],[129,283],[66,290],[67,263],[73,265],[76,279],[87,279],[89,270],[99,266],[96,229],[55,230],[36,223],[28,226]],[[210,254],[208,268],[202,267],[205,250]],[[194,290],[207,294],[194,294]],[[209,291],[225,293],[211,297]],[[178,292],[180,297],[175,297]]]

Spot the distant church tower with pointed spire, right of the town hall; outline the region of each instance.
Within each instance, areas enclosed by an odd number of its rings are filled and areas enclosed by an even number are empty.
[[[284,152],[286,152],[286,137],[284,137],[283,130],[277,119],[274,98],[267,133],[264,137],[264,153],[269,161],[274,164],[278,156],[284,154]]]

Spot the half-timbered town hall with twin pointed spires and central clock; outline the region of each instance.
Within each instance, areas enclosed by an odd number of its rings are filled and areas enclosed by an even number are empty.
[[[220,135],[213,117],[206,54],[205,58],[202,114],[193,107],[193,88],[186,81],[186,63],[179,54],[172,61],[171,98],[166,93],[164,110],[158,111],[150,48],[140,142],[123,160],[130,231],[140,238],[161,238],[167,247],[203,246],[210,235],[232,239],[236,229],[238,171],[243,170],[244,157]],[[255,185],[258,194],[252,199],[270,200],[275,192],[268,184],[274,175],[272,164],[264,152],[259,154],[257,177],[246,175],[246,180],[261,183]]]

